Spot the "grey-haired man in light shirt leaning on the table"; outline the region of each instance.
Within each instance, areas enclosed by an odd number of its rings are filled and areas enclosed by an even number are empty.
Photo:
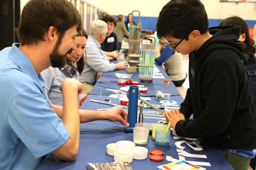
[[[79,80],[83,84],[85,93],[90,93],[96,83],[98,72],[124,70],[125,62],[110,63],[108,57],[101,49],[101,43],[105,40],[108,25],[102,20],[94,20],[90,25],[89,36],[86,45],[85,65]]]

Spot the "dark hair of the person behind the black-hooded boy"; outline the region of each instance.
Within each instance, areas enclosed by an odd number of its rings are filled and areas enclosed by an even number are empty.
[[[222,20],[219,26],[240,26],[241,34],[244,34],[244,33],[246,34],[246,38],[244,40],[244,44],[246,45],[246,54],[248,55],[248,57],[256,60],[256,57],[255,57],[256,48],[253,46],[254,41],[249,35],[249,28],[245,20],[237,16],[228,17]]]

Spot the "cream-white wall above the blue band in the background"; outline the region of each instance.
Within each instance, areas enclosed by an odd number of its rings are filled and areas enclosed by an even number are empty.
[[[20,8],[29,0],[20,0]],[[79,2],[79,0],[77,0]],[[112,15],[128,15],[132,10],[139,10],[141,16],[157,17],[169,0],[84,0]],[[209,19],[224,19],[237,15],[245,20],[256,20],[254,3],[220,3],[219,0],[201,0]]]

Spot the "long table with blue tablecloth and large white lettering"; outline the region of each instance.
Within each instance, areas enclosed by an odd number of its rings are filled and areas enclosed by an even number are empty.
[[[166,79],[169,79],[162,67],[157,66],[160,72]],[[126,71],[116,71],[118,73],[126,73]],[[117,79],[115,77],[116,72],[104,73],[96,85],[93,88],[92,93],[84,101],[81,109],[100,109],[111,108],[111,106],[103,105],[99,103],[90,102],[89,99],[96,99],[104,101],[111,92],[106,91],[106,88],[119,89],[120,86],[116,82],[111,82],[111,79]],[[129,73],[130,74],[130,73]],[[139,81],[138,75],[133,74],[134,81]],[[169,87],[164,87],[163,79],[154,79],[153,84],[142,83],[148,87],[148,96],[151,98],[151,103],[163,104],[166,109],[173,107],[180,107],[180,103],[183,102],[182,96],[178,93],[177,89],[170,82]],[[102,94],[100,95],[100,87],[102,88]],[[154,97],[155,91],[160,90],[163,93],[170,93],[170,101],[157,101]],[[119,99],[111,98],[112,103],[119,104]],[[150,110],[150,109],[149,109]],[[145,119],[144,122],[156,122],[153,119]],[[81,123],[80,130],[80,147],[76,161],[67,162],[61,161],[52,154],[48,154],[44,161],[41,163],[39,170],[86,170],[87,163],[89,162],[112,162],[113,156],[106,154],[106,145],[109,143],[115,143],[119,140],[133,141],[133,133],[126,133],[125,127],[119,122],[110,121],[94,121],[88,123]],[[151,135],[148,140],[148,145],[145,146],[148,150],[160,149],[164,151],[164,160],[162,162],[154,162],[148,158],[144,160],[133,160],[131,167],[133,170],[157,170],[157,166],[168,164],[171,161],[166,160],[166,156],[172,161],[186,160],[190,163],[198,164],[206,168],[207,170],[233,170],[227,159],[224,157],[221,150],[213,147],[211,144],[202,141],[188,141],[180,136],[177,136],[172,131],[169,147],[157,147],[154,145],[154,141],[151,140]],[[192,161],[192,162],[191,162]]]

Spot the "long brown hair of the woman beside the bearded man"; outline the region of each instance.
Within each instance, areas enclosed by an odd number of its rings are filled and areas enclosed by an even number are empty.
[[[78,36],[79,37],[86,37],[86,39],[88,39],[88,34],[87,32],[84,30],[84,28],[82,28],[81,31],[78,32]],[[84,52],[85,56],[86,56],[86,51]],[[85,63],[85,59],[84,59],[84,54],[82,55],[82,57],[76,62],[76,68],[79,72],[79,75],[82,74],[83,70],[84,70],[84,63]],[[67,60],[66,60],[67,61]],[[68,62],[68,61],[67,61]],[[72,65],[71,62],[67,63],[68,65]],[[74,74],[75,70],[72,68],[71,66],[71,70],[70,70],[70,74]]]

